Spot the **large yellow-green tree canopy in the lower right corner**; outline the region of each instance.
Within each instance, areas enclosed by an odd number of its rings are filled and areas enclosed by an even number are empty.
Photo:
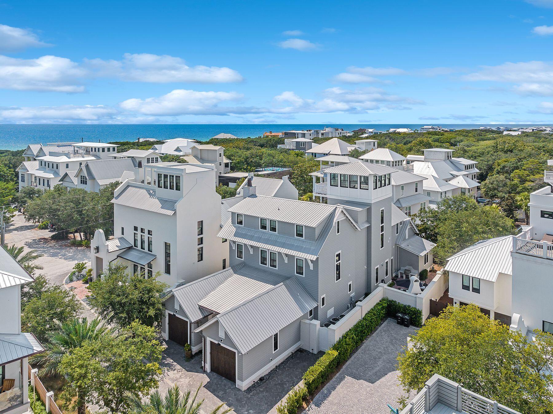
[[[411,337],[398,357],[405,392],[419,391],[434,374],[463,384],[524,413],[553,412],[553,336],[527,342],[519,331],[491,321],[475,305],[448,306]]]

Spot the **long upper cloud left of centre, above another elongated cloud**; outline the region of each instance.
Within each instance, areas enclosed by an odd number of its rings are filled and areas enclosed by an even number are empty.
[[[96,76],[118,77],[135,82],[241,82],[242,76],[228,67],[187,66],[180,57],[148,53],[123,55],[122,60],[85,60]]]

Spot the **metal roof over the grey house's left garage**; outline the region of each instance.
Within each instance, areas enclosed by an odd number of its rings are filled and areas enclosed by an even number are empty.
[[[244,266],[240,263],[233,268],[218,271],[212,275],[202,277],[201,279],[187,283],[173,289],[173,295],[179,301],[179,305],[190,318],[192,322],[196,322],[211,312],[206,311],[198,306],[198,302],[205,296],[217,289],[225,280],[234,275],[234,271],[241,269]]]

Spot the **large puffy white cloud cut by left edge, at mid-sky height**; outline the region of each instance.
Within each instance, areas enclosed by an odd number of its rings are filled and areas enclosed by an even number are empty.
[[[79,64],[58,56],[17,59],[0,55],[0,88],[18,91],[84,92]]]

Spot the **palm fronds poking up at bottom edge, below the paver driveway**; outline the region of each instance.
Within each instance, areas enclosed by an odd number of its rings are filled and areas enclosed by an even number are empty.
[[[203,384],[200,384],[194,396],[191,397],[191,392],[186,391],[181,394],[179,387],[174,386],[167,391],[167,394],[162,398],[159,391],[154,391],[150,394],[149,402],[143,403],[137,396],[129,395],[128,399],[131,403],[132,413],[148,413],[148,414],[196,414],[200,412],[200,408],[204,403],[204,399],[196,401],[198,392]],[[209,414],[227,414],[232,411],[231,408],[222,410],[225,403],[215,407]]]

